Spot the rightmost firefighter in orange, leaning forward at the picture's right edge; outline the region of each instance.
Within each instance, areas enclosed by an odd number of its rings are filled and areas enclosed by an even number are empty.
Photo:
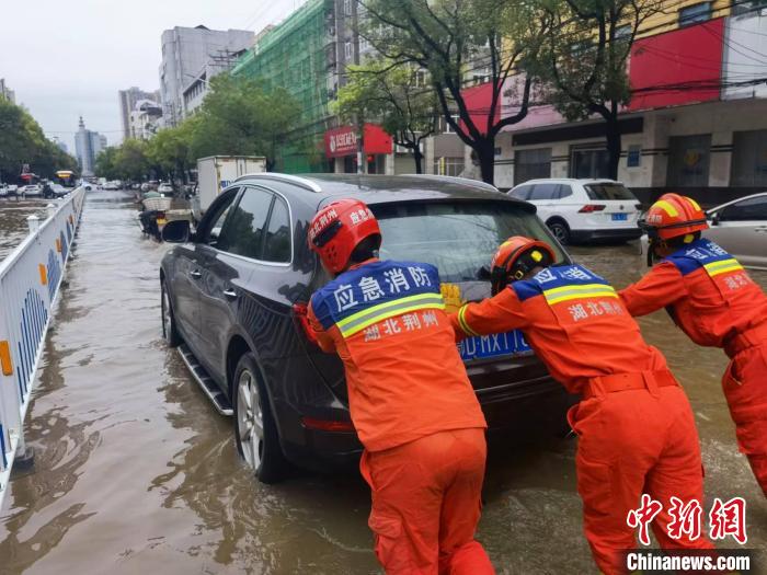
[[[767,496],[767,297],[721,246],[702,239],[698,204],[665,194],[640,223],[648,231],[648,264],[660,262],[619,292],[632,315],[666,308],[698,345],[730,357],[722,389],[737,442]]]

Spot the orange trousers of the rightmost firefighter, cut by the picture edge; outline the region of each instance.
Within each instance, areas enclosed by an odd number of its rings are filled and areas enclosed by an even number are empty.
[[[741,452],[767,497],[767,344],[737,354],[722,378]]]

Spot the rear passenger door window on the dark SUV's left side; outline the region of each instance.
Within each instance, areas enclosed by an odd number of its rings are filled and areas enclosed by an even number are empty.
[[[261,258],[264,225],[274,195],[259,188],[247,188],[240,203],[224,222],[217,248],[254,260]]]

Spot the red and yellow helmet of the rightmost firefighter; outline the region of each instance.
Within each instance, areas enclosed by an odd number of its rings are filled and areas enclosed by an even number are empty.
[[[671,240],[709,227],[706,214],[691,197],[663,194],[648,210],[640,227],[651,240]]]

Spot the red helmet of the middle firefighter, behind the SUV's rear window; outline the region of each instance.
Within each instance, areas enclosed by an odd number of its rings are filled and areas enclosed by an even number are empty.
[[[490,283],[493,296],[510,281],[525,277],[536,266],[549,266],[557,261],[551,246],[540,240],[514,235],[503,242],[490,263]]]

